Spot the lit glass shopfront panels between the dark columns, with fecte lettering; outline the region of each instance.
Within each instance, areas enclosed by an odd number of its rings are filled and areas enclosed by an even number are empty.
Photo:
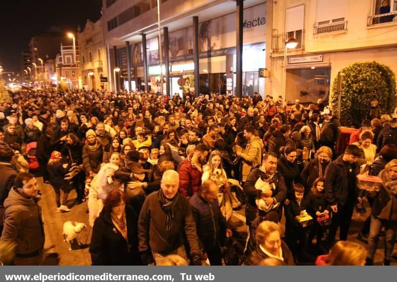
[[[265,68],[266,4],[244,10],[243,33],[243,95],[265,91],[265,78],[259,69]],[[236,14],[231,13],[199,23],[199,81],[194,81],[193,26],[169,33],[170,94],[182,96],[194,91],[199,83],[203,94],[232,93],[236,84]],[[146,41],[148,84],[153,91],[160,90],[160,66],[158,38]],[[162,46],[164,50],[164,45]],[[121,76],[128,88],[126,48],[118,50]],[[132,89],[145,89],[142,43],[131,45]],[[164,51],[163,51],[164,52]],[[164,63],[163,54],[163,63]],[[163,83],[166,83],[165,65],[162,67]],[[165,85],[163,87],[165,92]]]

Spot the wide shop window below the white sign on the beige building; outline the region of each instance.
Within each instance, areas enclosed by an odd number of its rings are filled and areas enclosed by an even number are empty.
[[[327,100],[330,95],[331,68],[307,67],[287,69],[285,99],[293,103],[317,103],[319,98]]]

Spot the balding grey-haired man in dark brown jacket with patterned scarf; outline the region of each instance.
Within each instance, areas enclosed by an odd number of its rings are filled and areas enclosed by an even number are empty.
[[[167,170],[161,179],[160,191],[147,196],[143,203],[138,220],[138,239],[141,259],[146,265],[152,255],[156,264],[171,254],[188,260],[184,233],[190,245],[191,264],[201,265],[192,209],[189,200],[178,193],[178,188],[178,172]]]

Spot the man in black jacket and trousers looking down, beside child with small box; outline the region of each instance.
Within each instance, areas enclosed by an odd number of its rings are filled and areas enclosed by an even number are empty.
[[[356,145],[348,145],[343,155],[327,166],[325,174],[326,200],[332,209],[332,222],[328,242],[335,241],[336,230],[340,227],[339,239],[346,240],[349,233],[354,204],[362,203],[357,189],[356,176],[360,171],[357,157],[361,154]]]

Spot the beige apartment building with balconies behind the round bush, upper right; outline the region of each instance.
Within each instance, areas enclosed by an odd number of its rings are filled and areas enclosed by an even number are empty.
[[[326,100],[338,72],[356,62],[377,61],[397,73],[397,0],[271,0],[266,5],[272,30],[267,95],[282,96],[285,88],[287,102]],[[297,46],[285,52],[290,38]]]

